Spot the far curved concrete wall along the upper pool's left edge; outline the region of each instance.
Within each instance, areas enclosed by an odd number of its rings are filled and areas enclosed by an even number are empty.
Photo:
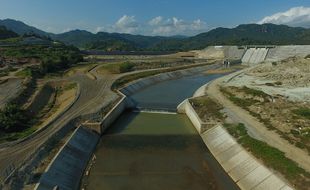
[[[221,66],[220,64],[214,64],[214,65],[195,67],[195,68],[190,68],[190,69],[185,69],[185,70],[173,71],[173,72],[168,72],[168,73],[161,73],[158,75],[154,75],[154,76],[147,77],[147,78],[142,78],[134,82],[131,82],[126,87],[122,88],[120,92],[122,92],[126,96],[130,96],[134,94],[135,92],[147,86],[150,86],[152,84],[159,83],[165,80],[177,79],[180,77],[193,75],[193,74],[205,71],[207,69],[216,69],[220,66]]]

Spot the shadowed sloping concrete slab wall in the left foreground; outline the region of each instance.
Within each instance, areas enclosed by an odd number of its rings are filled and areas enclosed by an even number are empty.
[[[78,189],[83,172],[99,141],[99,134],[79,127],[65,146],[58,152],[35,189]]]

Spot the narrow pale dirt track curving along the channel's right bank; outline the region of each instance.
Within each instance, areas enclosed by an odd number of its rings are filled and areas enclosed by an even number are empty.
[[[298,163],[305,170],[310,171],[310,159],[305,151],[290,144],[288,141],[281,138],[276,132],[268,130],[255,117],[250,115],[250,113],[233,104],[221,93],[220,85],[234,75],[236,74],[231,74],[211,82],[208,85],[206,94],[217,100],[225,108],[227,115],[231,116],[232,119],[237,120],[236,122],[245,123],[247,128],[249,128],[249,131],[257,133],[254,134],[254,136],[259,136],[260,140],[283,151],[288,158]]]

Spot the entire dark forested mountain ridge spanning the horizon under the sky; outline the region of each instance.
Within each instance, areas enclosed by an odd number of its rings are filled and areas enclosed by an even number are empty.
[[[0,20],[1,25],[19,35],[33,33],[80,49],[103,51],[180,51],[212,45],[310,45],[310,29],[275,24],[243,24],[236,28],[216,28],[192,37],[107,32],[94,34],[86,30],[52,34],[12,19]]]

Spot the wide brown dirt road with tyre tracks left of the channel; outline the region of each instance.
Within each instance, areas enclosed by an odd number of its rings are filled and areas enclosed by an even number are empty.
[[[118,95],[112,92],[110,88],[117,77],[101,76],[98,80],[92,80],[85,74],[79,73],[66,78],[66,80],[77,82],[80,85],[81,92],[77,101],[62,116],[51,123],[45,130],[38,132],[33,138],[1,148],[0,174],[3,174],[8,166],[12,164],[18,165],[23,162],[37,147],[40,147],[51,135],[68,124],[72,119],[96,112],[113,99],[116,99]]]

